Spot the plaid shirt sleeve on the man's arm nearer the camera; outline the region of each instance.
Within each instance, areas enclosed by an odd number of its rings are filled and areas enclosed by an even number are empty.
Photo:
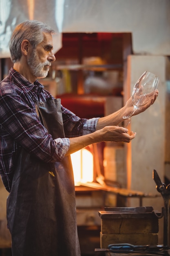
[[[0,120],[4,151],[15,141],[44,162],[61,161],[68,151],[69,139],[53,140],[24,95],[8,92],[0,97]]]

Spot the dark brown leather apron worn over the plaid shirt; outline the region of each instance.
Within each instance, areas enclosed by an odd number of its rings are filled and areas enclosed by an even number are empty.
[[[53,139],[64,136],[61,101],[37,102]],[[45,163],[21,149],[7,198],[13,256],[80,256],[71,159]]]

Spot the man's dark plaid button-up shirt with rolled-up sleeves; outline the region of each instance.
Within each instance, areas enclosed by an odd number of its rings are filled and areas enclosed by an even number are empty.
[[[47,98],[54,99],[38,81],[30,83],[13,68],[0,83],[0,176],[9,192],[20,147],[44,162],[57,162],[69,149],[68,138],[95,131],[98,118],[80,119],[61,106],[66,138],[52,139],[35,110],[35,101]]]

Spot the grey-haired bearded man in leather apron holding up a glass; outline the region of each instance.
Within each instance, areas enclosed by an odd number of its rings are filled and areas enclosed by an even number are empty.
[[[44,90],[53,29],[27,20],[11,36],[13,68],[0,83],[0,175],[7,198],[13,256],[80,256],[70,154],[101,141],[130,142],[136,133],[119,127],[126,106],[102,118],[80,119]],[[156,91],[146,110],[157,98]]]

